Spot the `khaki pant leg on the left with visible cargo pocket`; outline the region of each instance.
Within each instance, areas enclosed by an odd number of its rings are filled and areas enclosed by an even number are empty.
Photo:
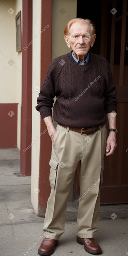
[[[47,238],[58,240],[64,232],[68,195],[81,159],[82,135],[57,126],[50,160],[51,194],[48,198],[43,230]]]

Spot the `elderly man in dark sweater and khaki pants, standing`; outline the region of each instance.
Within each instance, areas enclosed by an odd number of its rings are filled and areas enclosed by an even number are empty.
[[[105,148],[106,156],[113,155],[116,148],[116,87],[107,60],[89,51],[96,38],[92,22],[73,19],[64,33],[72,51],[51,62],[36,106],[52,140],[51,194],[43,228],[47,232],[38,254],[52,255],[64,232],[68,195],[80,161],[76,241],[88,253],[99,254],[101,248],[94,236],[98,229]],[[106,141],[107,118],[110,133]]]

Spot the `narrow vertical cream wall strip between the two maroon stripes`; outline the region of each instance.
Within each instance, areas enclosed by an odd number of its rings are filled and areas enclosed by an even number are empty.
[[[40,1],[33,0],[33,38],[40,31]],[[40,89],[40,36],[32,44],[32,87],[39,86]],[[35,106],[40,90],[32,89],[32,142],[40,134],[40,114]],[[38,188],[39,179],[39,145],[40,139],[32,145],[32,168],[31,168],[31,202],[33,208],[38,214],[38,194],[33,190]],[[38,191],[38,190],[36,190]]]

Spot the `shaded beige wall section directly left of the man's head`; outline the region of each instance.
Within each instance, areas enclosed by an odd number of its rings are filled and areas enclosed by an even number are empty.
[[[54,0],[52,6],[52,60],[71,51],[64,39],[68,21],[76,18],[77,0]]]

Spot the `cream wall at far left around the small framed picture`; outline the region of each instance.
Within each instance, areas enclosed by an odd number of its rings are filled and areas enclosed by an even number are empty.
[[[22,52],[16,52],[15,16],[21,0],[0,1],[0,103],[18,103],[17,146],[20,148]],[[9,63],[8,63],[9,62]]]

